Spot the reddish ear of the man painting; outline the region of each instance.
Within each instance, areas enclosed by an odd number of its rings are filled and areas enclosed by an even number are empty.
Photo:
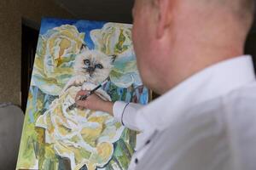
[[[176,0],[154,0],[154,6],[158,10],[156,36],[164,36],[166,28],[171,26],[173,5]]]

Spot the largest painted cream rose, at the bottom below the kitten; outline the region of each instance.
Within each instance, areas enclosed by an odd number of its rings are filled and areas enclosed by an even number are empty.
[[[96,86],[87,84],[91,90]],[[53,144],[55,154],[67,157],[73,170],[86,165],[89,170],[104,167],[113,156],[113,143],[118,141],[125,127],[113,116],[102,111],[67,111],[74,103],[80,87],[69,88],[59,99],[55,99],[49,110],[39,116],[36,127],[45,129],[45,143]],[[102,98],[111,100],[106,92],[97,90]]]

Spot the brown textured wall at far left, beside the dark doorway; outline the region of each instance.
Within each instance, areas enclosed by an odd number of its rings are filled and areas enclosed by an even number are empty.
[[[0,103],[20,105],[21,19],[39,26],[42,17],[73,18],[53,0],[1,0]]]

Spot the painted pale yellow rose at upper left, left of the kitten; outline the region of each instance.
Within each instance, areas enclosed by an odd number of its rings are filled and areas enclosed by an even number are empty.
[[[58,95],[73,75],[73,60],[84,43],[75,26],[55,27],[38,39],[32,85],[45,94]]]

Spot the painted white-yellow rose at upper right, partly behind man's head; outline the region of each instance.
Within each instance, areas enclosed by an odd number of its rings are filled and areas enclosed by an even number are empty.
[[[131,28],[132,25],[128,24],[107,23],[102,29],[90,31],[97,50],[117,56],[109,77],[119,88],[142,85],[131,41]]]

